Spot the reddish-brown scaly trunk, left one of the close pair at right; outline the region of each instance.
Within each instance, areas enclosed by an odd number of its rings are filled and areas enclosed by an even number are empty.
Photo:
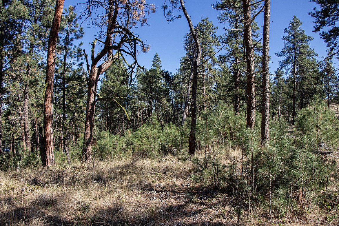
[[[247,120],[246,126],[254,128],[255,125],[255,86],[254,86],[254,50],[252,44],[251,27],[251,1],[242,0],[244,10],[244,40],[246,49],[247,74]]]

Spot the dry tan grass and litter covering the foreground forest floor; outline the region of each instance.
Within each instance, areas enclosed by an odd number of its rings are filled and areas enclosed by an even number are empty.
[[[171,156],[101,162],[94,171],[73,163],[0,172],[0,225],[238,225],[237,200],[192,175],[191,161]],[[278,218],[258,205],[241,212],[239,225],[338,225],[336,214]]]

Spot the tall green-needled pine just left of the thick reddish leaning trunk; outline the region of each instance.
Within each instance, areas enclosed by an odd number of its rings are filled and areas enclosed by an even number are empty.
[[[31,148],[32,129],[30,129],[33,123],[29,122],[35,122],[35,147],[39,150],[37,131],[39,127],[38,124],[40,125],[41,120],[37,120],[39,118],[38,114],[33,114],[33,112],[40,110],[41,108],[30,108],[29,102],[32,103],[36,102],[36,100],[41,100],[41,97],[37,97],[36,95],[37,93],[40,93],[37,91],[37,87],[39,87],[38,84],[42,81],[42,67],[39,65],[39,62],[41,62],[44,58],[44,52],[47,47],[48,34],[46,33],[46,30],[50,28],[51,21],[53,20],[54,1],[31,0],[24,1],[24,4],[28,10],[28,18],[24,23],[25,32],[23,36],[23,57],[25,58],[23,62],[25,65],[20,65],[20,67],[25,67],[26,71],[21,74],[21,78],[19,78],[19,80],[22,81],[23,90],[23,142],[25,143],[25,147],[28,151],[33,151],[33,148]]]

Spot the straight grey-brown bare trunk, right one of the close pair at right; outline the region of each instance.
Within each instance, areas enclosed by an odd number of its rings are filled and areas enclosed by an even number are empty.
[[[269,49],[269,37],[270,37],[270,0],[265,0],[265,12],[264,12],[264,33],[263,33],[263,45],[262,45],[262,112],[261,112],[261,145],[269,139],[268,123],[270,118],[269,106],[270,106],[270,71],[268,63],[270,56],[268,54]]]

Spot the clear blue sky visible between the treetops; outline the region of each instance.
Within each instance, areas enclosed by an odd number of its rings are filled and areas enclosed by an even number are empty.
[[[139,37],[146,41],[151,49],[148,53],[140,53],[138,55],[138,61],[140,65],[145,68],[151,67],[151,60],[155,53],[158,53],[161,62],[162,69],[168,70],[173,74],[176,73],[179,67],[181,57],[185,55],[183,48],[183,41],[185,35],[189,32],[189,27],[186,19],[183,17],[173,22],[167,22],[163,16],[161,4],[163,0],[146,0],[146,3],[154,3],[158,6],[155,14],[148,16],[149,26],[140,26],[135,29],[135,33],[139,34]],[[213,21],[215,26],[218,26],[218,35],[224,33],[224,27],[226,24],[218,24],[217,16],[218,11],[212,8],[211,4],[214,4],[215,0],[186,0],[185,7],[188,14],[191,16],[193,25],[196,25],[201,19],[208,17]],[[66,0],[64,7],[70,4],[74,4],[74,1]],[[326,44],[320,39],[319,34],[313,33],[313,18],[308,15],[308,12],[313,10],[316,6],[315,3],[309,0],[272,0],[271,1],[271,25],[270,25],[270,71],[273,73],[279,66],[279,60],[275,56],[283,48],[284,28],[288,27],[293,16],[297,16],[302,21],[302,28],[307,35],[313,36],[314,40],[311,41],[311,47],[319,55],[318,60],[326,56]],[[182,12],[181,12],[182,15]],[[262,26],[262,16],[257,18],[259,26]],[[86,28],[85,24],[85,37],[83,38],[86,52],[89,53],[91,46],[87,43],[92,42],[96,34],[93,32],[95,28]],[[220,54],[223,52],[221,51]],[[336,65],[335,65],[336,66]]]

